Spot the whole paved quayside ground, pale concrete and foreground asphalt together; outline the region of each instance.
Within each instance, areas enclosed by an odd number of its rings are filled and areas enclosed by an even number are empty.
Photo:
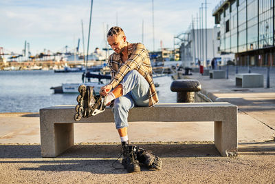
[[[239,68],[246,72],[246,68]],[[252,68],[252,72],[265,74]],[[131,123],[131,141],[164,161],[161,171],[142,167],[128,174],[111,165],[120,153],[113,123],[76,124],[76,145],[41,158],[39,114],[0,114],[0,183],[275,183],[275,74],[271,88],[236,88],[229,79],[194,73],[213,101],[239,106],[239,156],[221,157],[213,145],[213,123]],[[266,77],[265,77],[266,81]],[[266,82],[265,82],[266,83]],[[115,167],[121,167],[116,163]]]

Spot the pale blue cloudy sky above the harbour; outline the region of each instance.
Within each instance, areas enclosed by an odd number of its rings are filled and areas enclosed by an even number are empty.
[[[94,0],[91,16],[89,52],[105,48],[106,32],[112,26],[120,26],[130,43],[142,42],[153,50],[153,20],[155,50],[160,43],[164,48],[174,47],[174,37],[186,32],[192,17],[199,16],[199,7],[205,0]],[[219,1],[207,1],[207,27],[214,26],[212,10]],[[73,52],[80,39],[83,51],[83,20],[85,52],[89,32],[91,0],[1,0],[0,47],[5,53],[22,54],[25,41],[32,54],[50,50],[65,52],[65,46]],[[205,12],[203,11],[205,21]],[[203,21],[203,22],[204,22]],[[143,22],[143,34],[142,34]],[[197,23],[195,22],[195,28]],[[205,25],[203,25],[205,26]]]

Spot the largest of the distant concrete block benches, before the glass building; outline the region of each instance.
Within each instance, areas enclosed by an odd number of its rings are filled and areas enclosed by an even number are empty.
[[[263,88],[263,74],[236,74],[236,86],[242,88]]]

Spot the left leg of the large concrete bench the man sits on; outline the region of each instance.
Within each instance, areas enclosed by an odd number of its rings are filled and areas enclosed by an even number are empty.
[[[58,156],[74,145],[74,123],[40,124],[42,157]]]

